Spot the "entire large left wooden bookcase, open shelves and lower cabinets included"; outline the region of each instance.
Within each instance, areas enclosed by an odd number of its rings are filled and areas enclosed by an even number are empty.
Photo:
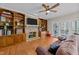
[[[25,15],[0,8],[0,47],[25,41]]]

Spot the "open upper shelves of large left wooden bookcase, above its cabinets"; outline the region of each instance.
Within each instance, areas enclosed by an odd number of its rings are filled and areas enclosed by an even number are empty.
[[[0,8],[0,32],[3,35],[24,33],[25,15]]]

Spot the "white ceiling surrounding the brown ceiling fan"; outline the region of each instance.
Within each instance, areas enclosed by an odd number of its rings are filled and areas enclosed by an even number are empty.
[[[54,4],[49,3],[49,5],[52,6]],[[39,13],[39,11],[43,9],[41,3],[0,3],[0,7],[20,11],[25,14],[29,13],[45,19],[79,11],[79,3],[60,3],[60,5],[55,8],[58,12],[50,12],[48,15],[45,15],[45,12]]]

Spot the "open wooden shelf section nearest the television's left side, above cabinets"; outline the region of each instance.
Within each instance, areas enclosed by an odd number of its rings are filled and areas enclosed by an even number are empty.
[[[25,33],[25,15],[20,13],[13,13],[14,15],[14,34]]]

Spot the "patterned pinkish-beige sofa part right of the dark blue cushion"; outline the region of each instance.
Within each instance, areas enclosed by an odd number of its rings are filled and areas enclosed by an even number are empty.
[[[77,55],[77,39],[76,36],[70,36],[62,45],[58,48],[57,55]]]

